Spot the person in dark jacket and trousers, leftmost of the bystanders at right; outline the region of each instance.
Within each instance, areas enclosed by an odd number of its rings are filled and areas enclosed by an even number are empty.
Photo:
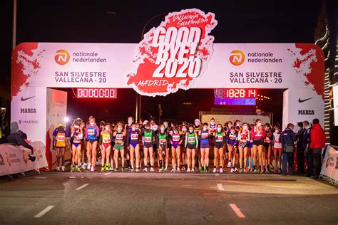
[[[292,123],[287,125],[287,128],[280,134],[280,142],[282,143],[283,150],[283,168],[282,174],[287,175],[287,163],[289,163],[289,174],[293,175],[293,152],[295,152],[295,141],[297,140],[295,133],[293,132],[293,128],[295,126]]]

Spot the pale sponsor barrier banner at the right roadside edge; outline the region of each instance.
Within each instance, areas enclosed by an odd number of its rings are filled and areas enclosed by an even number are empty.
[[[337,184],[338,182],[338,147],[329,145],[324,155],[324,162],[320,175],[324,175],[331,179],[331,182]]]

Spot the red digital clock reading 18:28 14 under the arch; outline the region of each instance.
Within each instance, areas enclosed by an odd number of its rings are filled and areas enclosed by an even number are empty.
[[[256,98],[257,89],[252,88],[217,88],[215,98]]]

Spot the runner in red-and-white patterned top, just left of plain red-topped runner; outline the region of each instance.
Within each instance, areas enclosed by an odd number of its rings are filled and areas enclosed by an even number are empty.
[[[249,125],[244,122],[242,127],[240,128],[240,132],[238,133],[238,148],[240,150],[240,172],[244,172],[243,170],[243,157],[244,157],[244,167],[245,171],[247,171],[247,143],[250,142],[250,133],[249,133]]]

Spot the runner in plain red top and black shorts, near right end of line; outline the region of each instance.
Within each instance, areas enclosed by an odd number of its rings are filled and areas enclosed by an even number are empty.
[[[264,148],[263,139],[265,137],[265,130],[262,126],[262,120],[257,119],[255,122],[255,127],[251,128],[251,136],[252,136],[252,156],[253,156],[253,173],[261,172],[262,171],[262,152]],[[258,150],[258,162],[259,162],[259,169],[257,170],[256,160],[257,160],[257,150]]]

